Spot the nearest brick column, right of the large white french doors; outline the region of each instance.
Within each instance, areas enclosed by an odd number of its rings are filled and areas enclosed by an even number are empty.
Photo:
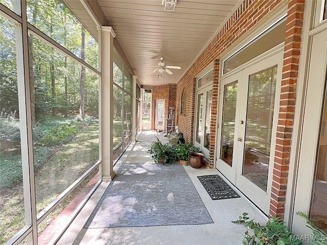
[[[305,0],[289,0],[269,211],[270,215],[281,218],[284,216],[304,8]]]

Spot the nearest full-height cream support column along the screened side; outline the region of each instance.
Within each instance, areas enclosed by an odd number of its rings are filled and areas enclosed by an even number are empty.
[[[113,38],[111,27],[101,27],[101,132],[102,180],[111,181],[113,171]]]

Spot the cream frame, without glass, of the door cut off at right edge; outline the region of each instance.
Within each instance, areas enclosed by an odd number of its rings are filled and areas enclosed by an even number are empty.
[[[306,103],[303,115],[292,215],[292,231],[297,234],[312,234],[312,231],[306,227],[306,220],[297,215],[296,212],[301,211],[308,215],[310,211],[320,133],[320,120],[326,83],[326,35],[327,30],[324,30],[312,37]]]

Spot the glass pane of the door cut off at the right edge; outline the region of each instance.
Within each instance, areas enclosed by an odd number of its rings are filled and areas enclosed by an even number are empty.
[[[326,94],[326,93],[325,93]],[[325,97],[317,153],[316,178],[310,207],[310,219],[320,229],[327,229],[327,100]]]

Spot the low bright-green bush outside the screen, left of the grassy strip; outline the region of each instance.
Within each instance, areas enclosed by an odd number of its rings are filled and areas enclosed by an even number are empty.
[[[75,134],[77,134],[77,126],[74,122],[70,124],[59,124],[49,131],[46,131],[40,139],[40,143],[43,145],[65,143],[71,140]]]

